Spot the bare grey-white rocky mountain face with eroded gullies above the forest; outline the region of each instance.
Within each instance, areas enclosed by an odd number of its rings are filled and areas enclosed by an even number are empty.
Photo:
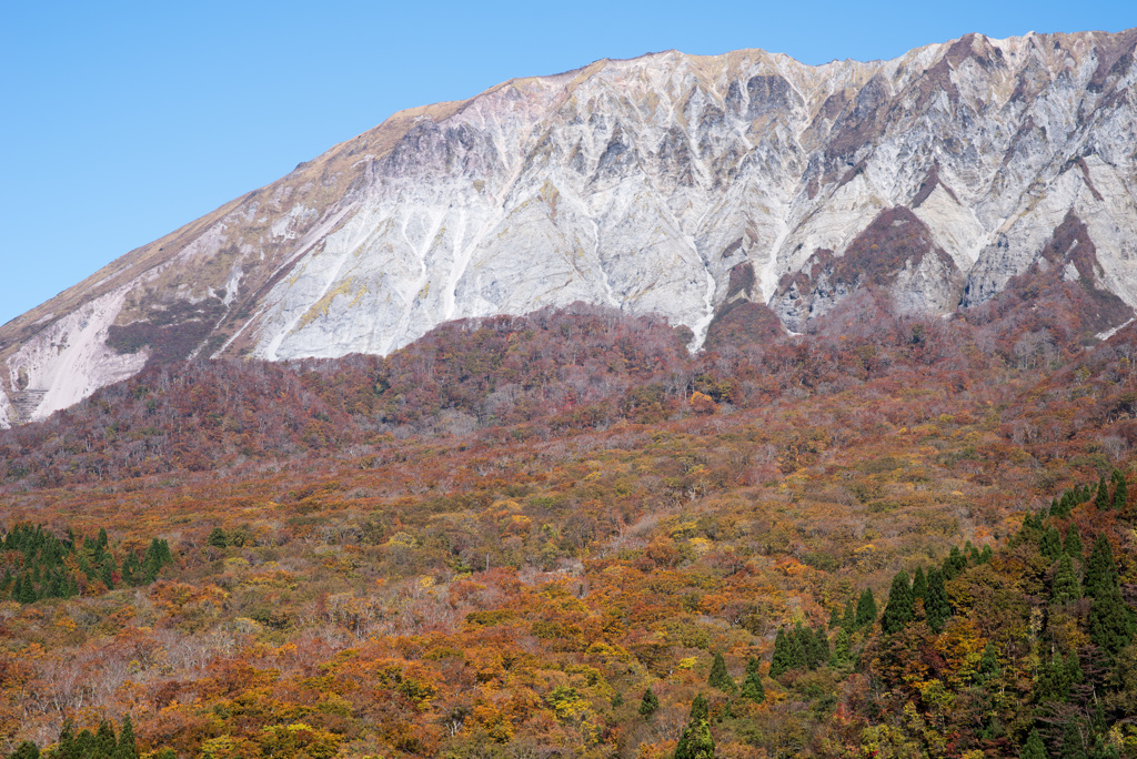
[[[1137,306],[1137,30],[889,61],[601,60],[396,114],[0,327],[0,426],[148,362],[389,353],[586,301],[782,326],[858,291],[949,314],[1027,280]]]

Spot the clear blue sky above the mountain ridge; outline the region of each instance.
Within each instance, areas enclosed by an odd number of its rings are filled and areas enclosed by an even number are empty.
[[[11,2],[0,324],[401,108],[675,48],[808,64],[968,32],[1121,31],[1134,0]]]

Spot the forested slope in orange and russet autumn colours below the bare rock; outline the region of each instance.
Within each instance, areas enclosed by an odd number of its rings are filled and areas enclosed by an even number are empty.
[[[1137,334],[1085,350],[1062,283],[880,298],[697,357],[580,307],[191,362],[3,433],[5,529],[174,559],[0,602],[3,750],[128,714],[181,757],[1137,756]]]

